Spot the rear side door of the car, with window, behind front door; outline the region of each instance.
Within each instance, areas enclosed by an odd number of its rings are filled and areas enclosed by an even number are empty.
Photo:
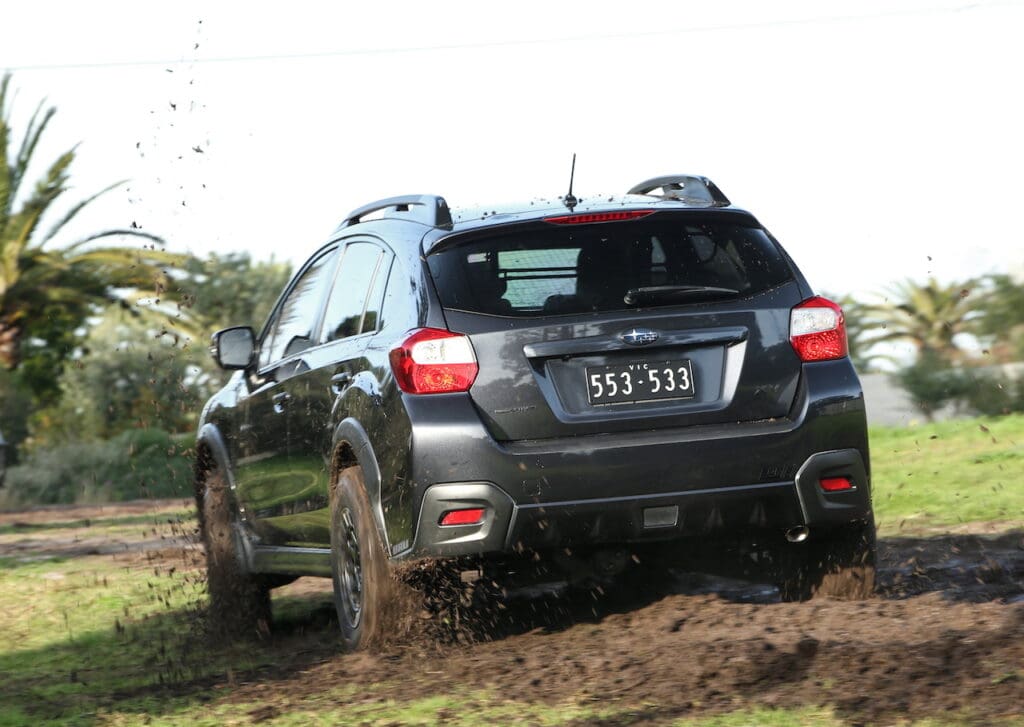
[[[282,493],[291,513],[283,524],[293,546],[330,543],[333,430],[347,414],[350,387],[365,378],[364,351],[377,327],[376,311],[390,264],[390,253],[367,239],[348,242],[340,255],[316,345],[300,354],[301,368],[284,384],[293,477],[288,491]]]

